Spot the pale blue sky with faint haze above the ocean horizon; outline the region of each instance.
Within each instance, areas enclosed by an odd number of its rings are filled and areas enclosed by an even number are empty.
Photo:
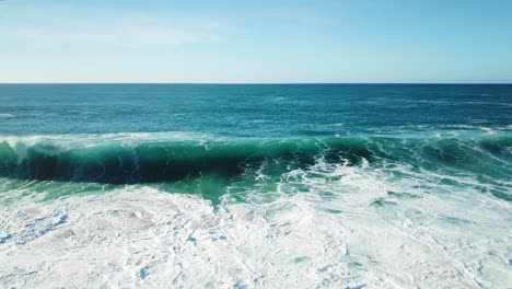
[[[512,82],[512,1],[5,0],[0,82]]]

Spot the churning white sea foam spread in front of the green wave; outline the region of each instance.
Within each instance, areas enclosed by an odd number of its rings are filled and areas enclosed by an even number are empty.
[[[274,201],[254,192],[247,203],[224,197],[217,209],[147,186],[43,203],[19,186],[3,193],[18,201],[0,210],[0,287],[512,282],[510,203],[476,189],[473,177],[453,178],[455,188],[441,174],[393,167],[404,174],[396,178],[386,170],[321,159],[283,175]]]

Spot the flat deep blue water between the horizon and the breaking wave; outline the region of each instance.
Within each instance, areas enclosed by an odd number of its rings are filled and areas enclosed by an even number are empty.
[[[511,124],[512,85],[0,85],[0,135],[194,131],[282,138]]]

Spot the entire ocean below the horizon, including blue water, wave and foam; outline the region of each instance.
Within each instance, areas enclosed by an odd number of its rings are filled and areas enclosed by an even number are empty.
[[[512,288],[512,85],[0,85],[1,288]]]

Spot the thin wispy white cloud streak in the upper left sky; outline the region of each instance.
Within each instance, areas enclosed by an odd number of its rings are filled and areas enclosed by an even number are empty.
[[[179,25],[166,19],[144,16],[112,21],[67,21],[62,25],[3,28],[2,37],[39,44],[92,44],[102,46],[175,46],[220,42],[220,25],[194,23]]]

